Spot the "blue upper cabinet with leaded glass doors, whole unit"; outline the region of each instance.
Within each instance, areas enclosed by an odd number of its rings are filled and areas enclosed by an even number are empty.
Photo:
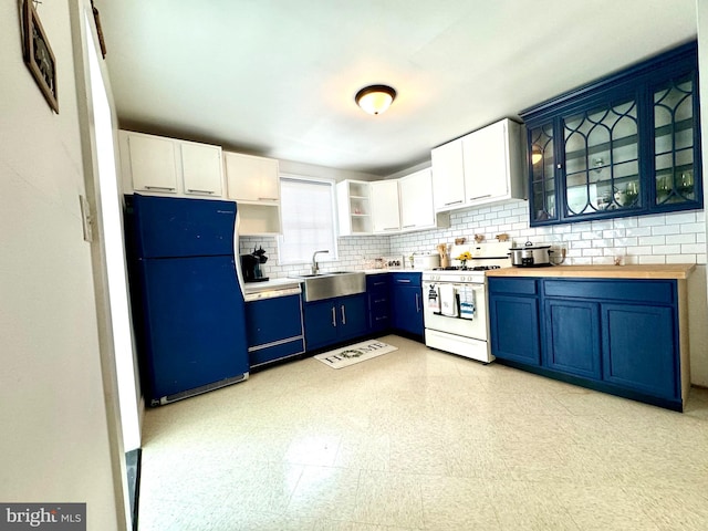
[[[695,43],[521,116],[531,226],[702,208]]]

